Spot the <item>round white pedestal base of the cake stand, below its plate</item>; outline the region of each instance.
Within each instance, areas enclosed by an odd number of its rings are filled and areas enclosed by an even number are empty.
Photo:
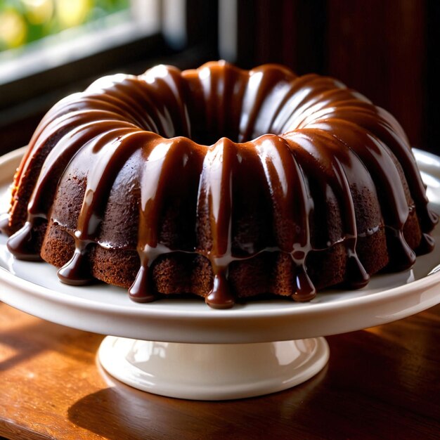
[[[183,344],[105,337],[103,368],[131,387],[193,400],[244,399],[295,387],[328,361],[323,337],[257,344]]]

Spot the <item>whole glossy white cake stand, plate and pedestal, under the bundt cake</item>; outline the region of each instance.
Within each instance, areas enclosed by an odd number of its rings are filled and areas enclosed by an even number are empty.
[[[0,212],[8,206],[8,185],[22,153],[0,158]],[[421,151],[416,157],[429,200],[440,207],[440,158]],[[440,243],[440,227],[434,238]],[[54,323],[112,335],[98,358],[133,387],[183,399],[240,399],[287,389],[318,373],[329,356],[325,335],[389,323],[438,304],[437,265],[440,245],[412,270],[374,276],[361,290],[331,290],[306,304],[280,299],[212,310],[198,299],[136,304],[117,287],[63,285],[52,266],[15,260],[0,235],[0,300]]]

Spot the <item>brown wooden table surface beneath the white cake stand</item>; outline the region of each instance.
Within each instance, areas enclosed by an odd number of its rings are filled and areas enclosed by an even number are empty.
[[[330,362],[316,377],[241,401],[183,401],[131,389],[97,364],[102,338],[0,303],[0,436],[440,438],[440,305],[328,337]]]

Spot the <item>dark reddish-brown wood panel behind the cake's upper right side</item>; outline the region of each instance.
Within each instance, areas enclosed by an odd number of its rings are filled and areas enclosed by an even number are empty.
[[[422,148],[423,2],[328,2],[328,73],[389,110]]]

